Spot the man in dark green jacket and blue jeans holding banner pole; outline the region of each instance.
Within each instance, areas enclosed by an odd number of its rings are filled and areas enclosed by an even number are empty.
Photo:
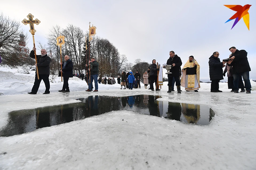
[[[92,83],[94,80],[94,84],[95,84],[95,90],[94,91],[98,91],[98,74],[99,74],[99,63],[98,61],[95,60],[95,58],[91,58],[91,61],[89,61],[90,67],[87,71],[87,75],[88,73],[90,74],[90,81],[89,81],[89,87],[86,91],[92,91]],[[87,64],[86,64],[87,66]]]

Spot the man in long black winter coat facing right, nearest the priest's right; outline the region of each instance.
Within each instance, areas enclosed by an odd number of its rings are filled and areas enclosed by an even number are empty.
[[[214,52],[209,58],[209,74],[211,80],[211,92],[222,92],[219,90],[219,81],[223,80],[223,67],[226,62],[219,60],[219,52]]]

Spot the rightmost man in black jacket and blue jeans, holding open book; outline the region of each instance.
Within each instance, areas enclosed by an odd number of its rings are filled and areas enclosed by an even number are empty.
[[[249,79],[249,71],[251,71],[248,59],[247,59],[247,52],[245,50],[238,50],[234,46],[229,48],[230,54],[229,66],[233,66],[233,74],[234,74],[234,91],[238,93],[238,82],[239,78],[242,75],[243,80],[245,82],[245,89],[246,93],[251,93],[251,82]]]

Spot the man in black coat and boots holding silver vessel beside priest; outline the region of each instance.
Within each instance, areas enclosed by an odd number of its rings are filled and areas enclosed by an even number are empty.
[[[177,91],[178,91],[178,93],[181,93],[181,82],[179,79],[179,76],[181,73],[180,67],[182,65],[181,58],[179,56],[177,56],[177,54],[175,54],[174,51],[170,51],[169,55],[170,55],[170,58],[167,60],[166,64],[173,65],[173,67],[171,68],[172,74],[167,75],[168,76],[168,91],[167,91],[167,93],[171,92],[171,89],[173,86],[172,85],[173,77],[176,82]]]

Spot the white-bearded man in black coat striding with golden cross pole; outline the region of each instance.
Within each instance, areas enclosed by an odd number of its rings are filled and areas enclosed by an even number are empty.
[[[37,49],[33,47],[33,50],[29,54],[31,58],[35,58],[35,52],[34,52],[35,50]],[[37,94],[39,85],[42,80],[45,83],[45,88],[46,88],[43,94],[50,93],[50,82],[49,82],[50,62],[51,62],[51,58],[47,56],[47,51],[45,49],[41,49],[41,55],[37,55],[37,64],[35,64],[35,66],[37,66],[38,68],[39,80],[37,78],[37,70],[36,70],[34,86],[31,92],[28,92],[28,94]]]

